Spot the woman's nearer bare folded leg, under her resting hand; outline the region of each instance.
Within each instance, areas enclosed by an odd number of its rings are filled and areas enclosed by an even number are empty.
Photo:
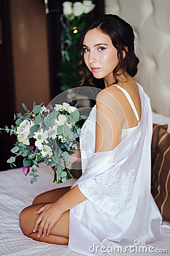
[[[22,210],[19,216],[19,223],[22,232],[27,237],[40,242],[56,243],[58,245],[68,245],[69,243],[69,210],[63,213],[61,218],[53,226],[48,236],[38,238],[37,232],[33,233],[33,225],[38,217],[35,213],[44,204],[34,204]]]

